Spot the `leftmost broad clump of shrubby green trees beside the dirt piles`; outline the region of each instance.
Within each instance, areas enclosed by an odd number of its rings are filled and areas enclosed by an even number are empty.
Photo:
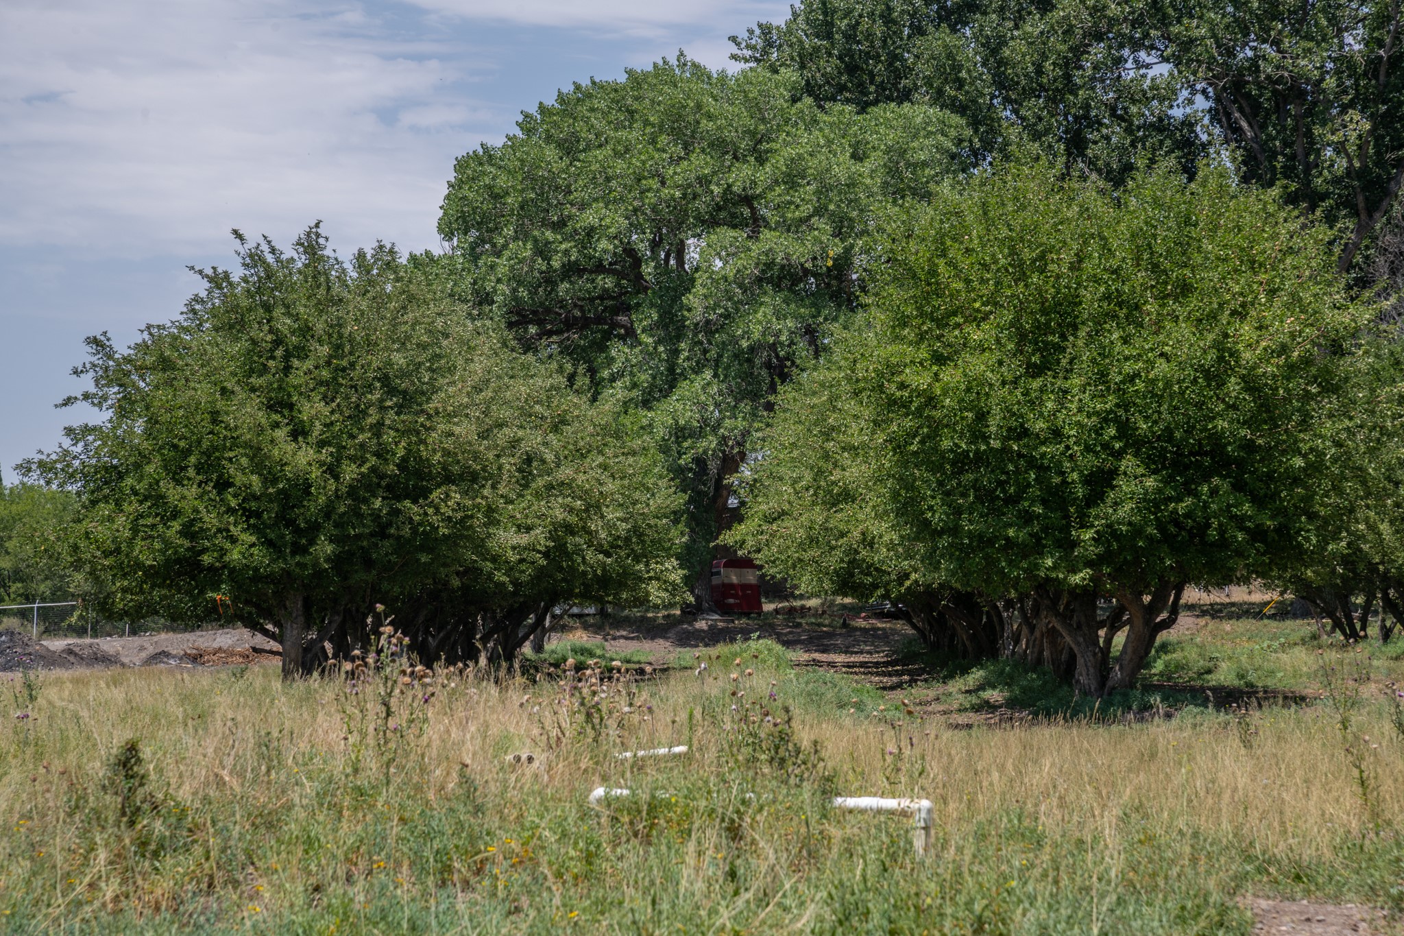
[[[511,657],[562,601],[677,594],[674,497],[633,420],[444,297],[434,265],[322,234],[202,272],[184,316],[94,338],[69,429],[107,613],[272,622],[289,672],[402,616],[425,657]],[[303,648],[310,655],[303,660]]]

